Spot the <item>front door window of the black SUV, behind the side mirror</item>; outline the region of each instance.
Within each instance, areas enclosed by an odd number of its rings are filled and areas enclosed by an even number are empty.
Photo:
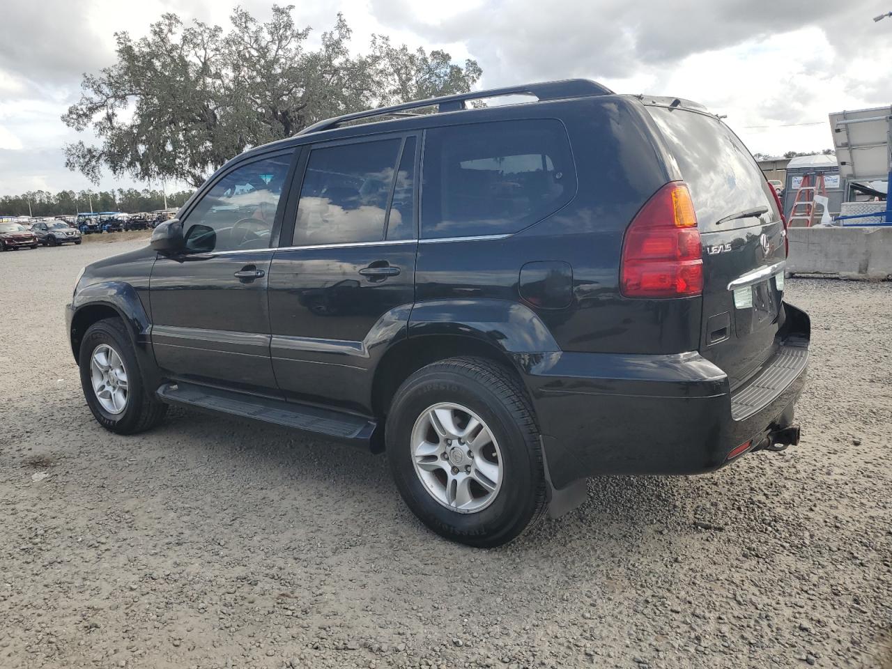
[[[290,155],[240,165],[221,178],[183,221],[192,252],[265,249]]]

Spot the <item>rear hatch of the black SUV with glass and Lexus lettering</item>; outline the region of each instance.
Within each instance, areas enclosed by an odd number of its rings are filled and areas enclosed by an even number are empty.
[[[787,255],[780,212],[762,170],[721,120],[677,101],[647,108],[697,212],[704,265],[699,350],[734,389],[775,351]]]

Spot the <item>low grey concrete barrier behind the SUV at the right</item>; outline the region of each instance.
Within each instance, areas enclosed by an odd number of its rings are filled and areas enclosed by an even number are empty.
[[[892,277],[892,227],[791,227],[789,274]]]

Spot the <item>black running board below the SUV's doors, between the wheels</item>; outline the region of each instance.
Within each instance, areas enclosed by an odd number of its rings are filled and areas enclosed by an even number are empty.
[[[210,411],[281,425],[308,434],[370,448],[377,422],[343,411],[319,409],[308,404],[273,400],[183,382],[161,384],[158,399],[187,409]]]

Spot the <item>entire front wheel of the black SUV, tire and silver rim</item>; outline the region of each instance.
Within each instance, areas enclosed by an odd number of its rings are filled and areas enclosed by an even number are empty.
[[[167,405],[145,392],[142,370],[120,318],[104,318],[87,328],[78,364],[87,404],[106,430],[143,432],[167,412]]]

